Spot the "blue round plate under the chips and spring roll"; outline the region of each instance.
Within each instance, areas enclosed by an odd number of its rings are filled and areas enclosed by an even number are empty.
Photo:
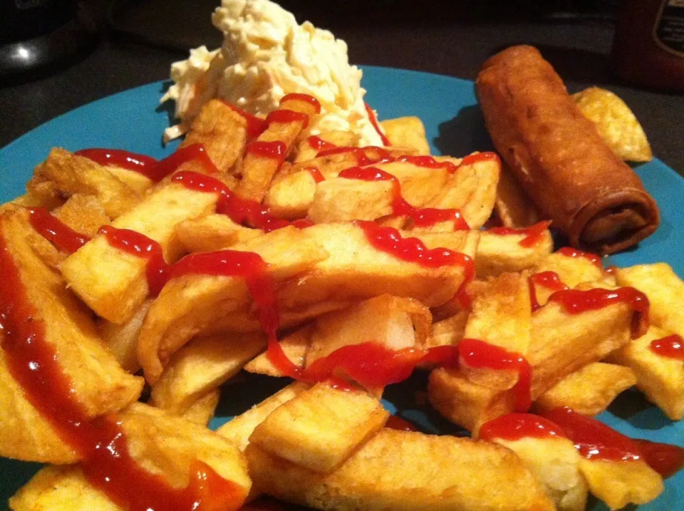
[[[401,69],[367,66],[363,68],[363,86],[367,100],[380,113],[380,118],[418,115],[423,119],[427,137],[435,153],[465,155],[473,150],[491,148],[477,108],[473,83],[470,81]],[[159,108],[159,98],[166,83],[150,83],[109,96],[77,108],[32,130],[0,150],[0,202],[24,193],[33,167],[43,161],[50,148],[68,150],[88,147],[122,148],[162,158],[172,153],[177,142],[164,147],[162,131],[169,125],[167,109]],[[611,258],[612,264],[629,266],[665,261],[680,276],[684,275],[684,179],[660,160],[637,167],[643,180],[660,206],[663,221],[653,236],[638,249]],[[279,378],[246,376],[242,383],[224,391],[230,395],[217,410],[212,427],[217,428],[233,415],[242,413],[254,403],[285,385]],[[388,388],[385,406],[420,425],[427,433],[458,434],[428,408],[416,406],[415,391],[425,389],[425,375],[416,374],[408,381]],[[667,442],[684,447],[684,425],[673,423],[651,406],[636,391],[619,396],[610,411],[600,415],[613,428],[634,438]],[[7,509],[6,499],[37,470],[38,465],[0,458],[0,509]],[[589,506],[593,511],[608,508],[600,502]],[[663,495],[643,511],[684,511],[684,473],[665,482]]]

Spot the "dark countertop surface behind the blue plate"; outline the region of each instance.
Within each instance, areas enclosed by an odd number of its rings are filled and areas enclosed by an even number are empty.
[[[220,33],[210,24],[218,0],[164,0],[162,5],[160,1],[148,0],[142,7],[135,4],[135,8],[115,13],[115,29],[105,31],[94,48],[58,71],[32,81],[0,81],[0,147],[80,105],[167,78],[170,64],[187,55],[183,48],[219,45]],[[410,13],[381,19],[378,9],[363,17],[353,16],[349,10],[331,16],[293,1],[282,3],[294,9],[299,21],[310,19],[345,39],[350,61],[361,65],[472,80],[492,53],[512,44],[530,43],[554,65],[569,91],[600,85],[616,92],[641,121],[654,155],[684,175],[684,97],[639,90],[611,76],[611,21],[515,21],[505,13],[482,21],[477,16],[440,17],[435,12],[418,19]],[[290,5],[293,3],[296,5]]]

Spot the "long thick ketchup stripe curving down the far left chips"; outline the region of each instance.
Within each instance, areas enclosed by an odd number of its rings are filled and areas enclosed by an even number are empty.
[[[3,237],[0,278],[6,286],[0,294],[1,347],[9,371],[28,401],[78,453],[90,484],[131,511],[239,509],[245,497],[242,489],[221,478],[209,465],[195,461],[187,487],[173,487],[133,459],[115,415],[88,418],[73,396],[72,383],[59,366],[56,351],[45,339],[45,324],[36,318],[36,310],[28,302],[19,269]]]

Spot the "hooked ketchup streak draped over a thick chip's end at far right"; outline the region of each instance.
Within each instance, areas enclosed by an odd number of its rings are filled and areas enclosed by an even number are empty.
[[[564,289],[549,296],[549,302],[554,301],[563,307],[568,314],[581,314],[586,311],[597,311],[611,304],[623,303],[631,306],[635,312],[632,317],[632,337],[636,338],[648,328],[648,298],[641,291],[633,287],[618,289]]]

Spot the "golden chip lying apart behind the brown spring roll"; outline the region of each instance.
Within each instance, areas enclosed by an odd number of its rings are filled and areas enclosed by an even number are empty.
[[[591,120],[598,133],[618,157],[631,162],[653,158],[646,133],[626,103],[615,93],[590,87],[573,94],[581,113]]]

